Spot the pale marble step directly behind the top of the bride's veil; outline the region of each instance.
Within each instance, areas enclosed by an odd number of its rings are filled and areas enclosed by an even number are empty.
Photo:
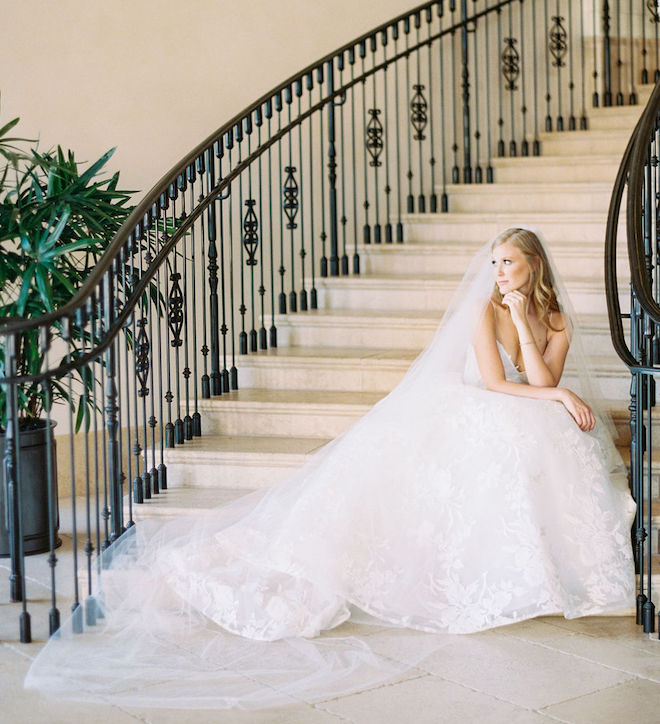
[[[402,217],[406,241],[424,243],[466,242],[485,244],[513,226],[533,226],[544,235],[550,248],[567,238],[579,242],[604,243],[605,213],[596,212],[493,212],[414,214]],[[625,239],[625,216],[619,220],[619,239]]]

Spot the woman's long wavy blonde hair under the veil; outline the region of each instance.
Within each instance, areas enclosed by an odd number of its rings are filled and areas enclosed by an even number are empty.
[[[550,322],[552,312],[561,310],[554,290],[550,263],[538,236],[529,229],[507,229],[495,237],[491,249],[502,244],[511,244],[525,255],[530,272],[529,295],[539,320],[549,329],[555,332],[561,331],[562,328],[558,329]],[[497,304],[502,303],[502,295],[497,284],[494,286],[491,299]]]

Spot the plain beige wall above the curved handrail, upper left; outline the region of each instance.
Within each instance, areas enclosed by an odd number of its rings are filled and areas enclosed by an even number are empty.
[[[0,122],[143,191],[231,116],[414,0],[1,0]]]

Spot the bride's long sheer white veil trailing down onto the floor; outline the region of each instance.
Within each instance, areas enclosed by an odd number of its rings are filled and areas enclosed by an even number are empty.
[[[493,288],[490,257],[491,242],[401,383],[289,479],[193,519],[141,523],[115,543],[99,581],[104,617],[84,635],[64,623],[26,686],[128,706],[263,708],[373,686],[442,648],[446,632],[510,622],[485,609],[471,616],[460,602],[429,614],[419,601],[429,584],[418,579],[435,563],[413,560],[430,525],[416,520],[429,494],[417,480],[446,474],[433,460],[435,436],[468,394],[463,374]],[[572,336],[573,386],[598,404],[552,271]]]

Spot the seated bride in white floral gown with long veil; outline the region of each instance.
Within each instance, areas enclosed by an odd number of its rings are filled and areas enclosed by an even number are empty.
[[[502,232],[398,387],[310,463],[112,546],[104,618],[63,626],[26,686],[264,707],[365,688],[448,634],[631,606],[635,506],[580,345],[538,234]]]

